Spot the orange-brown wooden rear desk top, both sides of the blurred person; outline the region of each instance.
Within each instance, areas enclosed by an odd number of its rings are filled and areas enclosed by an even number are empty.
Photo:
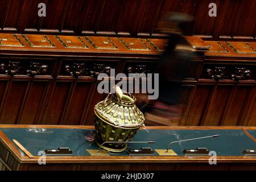
[[[197,36],[185,36],[195,51],[205,56],[256,58],[256,42],[234,40],[204,41]],[[154,55],[162,54],[167,39],[118,38],[106,36],[64,36],[35,34],[0,34],[0,54],[19,55]]]

